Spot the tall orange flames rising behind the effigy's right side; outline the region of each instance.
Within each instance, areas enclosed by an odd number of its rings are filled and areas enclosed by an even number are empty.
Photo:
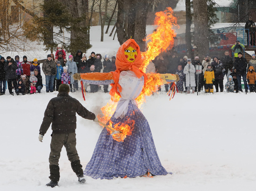
[[[147,51],[141,52],[142,66],[141,70],[146,71],[148,64],[155,59],[161,52],[166,51],[168,48],[172,49],[174,46],[174,38],[176,33],[173,29],[173,25],[177,25],[177,18],[173,16],[173,10],[168,7],[165,11],[155,13],[155,22],[157,29],[152,34],[146,37],[148,42]],[[151,96],[152,92],[155,92],[157,86],[163,82],[160,76],[148,75],[148,81],[144,85],[144,89],[139,97],[136,98],[138,107],[145,102],[145,96]]]

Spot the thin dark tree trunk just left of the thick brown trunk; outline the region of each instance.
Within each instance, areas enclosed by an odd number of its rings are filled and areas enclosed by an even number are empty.
[[[187,45],[187,54],[189,58],[192,58],[192,49],[191,49],[191,8],[190,8],[190,0],[186,0],[186,45]]]

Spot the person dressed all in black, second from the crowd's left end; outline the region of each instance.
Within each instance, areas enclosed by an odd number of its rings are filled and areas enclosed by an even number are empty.
[[[6,79],[8,83],[8,90],[10,95],[13,95],[13,87],[17,85],[17,74],[16,70],[18,66],[16,62],[11,57],[7,57],[7,62],[5,64],[5,71],[6,71]],[[12,85],[13,84],[13,85]]]

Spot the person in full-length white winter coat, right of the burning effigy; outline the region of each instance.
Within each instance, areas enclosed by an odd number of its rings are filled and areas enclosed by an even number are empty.
[[[191,59],[187,60],[188,64],[184,67],[183,73],[186,74],[186,87],[187,93],[190,93],[192,88],[192,93],[195,93],[195,66],[191,64]]]

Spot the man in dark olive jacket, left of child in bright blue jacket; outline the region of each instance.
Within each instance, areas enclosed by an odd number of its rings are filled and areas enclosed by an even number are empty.
[[[46,92],[54,91],[54,78],[57,74],[57,66],[55,62],[52,60],[50,54],[47,55],[47,60],[43,62],[42,70],[45,74],[46,81]]]

